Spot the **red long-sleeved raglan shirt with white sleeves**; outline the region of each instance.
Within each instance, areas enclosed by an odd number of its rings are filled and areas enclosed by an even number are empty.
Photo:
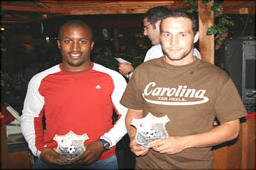
[[[101,159],[115,154],[116,143],[127,133],[127,108],[120,104],[126,81],[117,71],[91,63],[86,71],[71,72],[61,64],[32,77],[21,117],[21,128],[35,156],[44,147],[57,147],[55,134],[86,133],[86,143],[104,138],[110,143]],[[118,120],[113,125],[113,109]],[[46,130],[43,130],[43,114]]]

